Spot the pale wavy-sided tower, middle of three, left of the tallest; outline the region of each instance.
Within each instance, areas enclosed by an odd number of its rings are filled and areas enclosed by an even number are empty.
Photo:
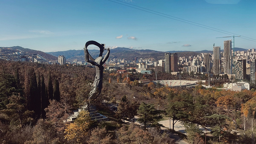
[[[213,47],[213,74],[219,75],[220,74],[220,46]]]

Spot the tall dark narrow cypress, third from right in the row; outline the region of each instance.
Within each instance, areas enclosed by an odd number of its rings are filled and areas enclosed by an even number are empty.
[[[44,75],[42,75],[42,81],[41,81],[41,97],[42,97],[42,118],[46,118],[46,112],[44,111],[45,108],[47,108],[47,101],[48,98],[46,97],[46,88],[44,84]]]

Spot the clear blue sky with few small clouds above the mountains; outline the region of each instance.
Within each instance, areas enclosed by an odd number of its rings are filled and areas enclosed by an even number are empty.
[[[241,35],[235,47],[251,49],[255,5],[255,0],[1,0],[0,47],[56,52],[82,50],[94,40],[107,48],[199,51],[213,50],[214,43],[223,49],[223,41],[233,37],[216,37],[235,33]]]

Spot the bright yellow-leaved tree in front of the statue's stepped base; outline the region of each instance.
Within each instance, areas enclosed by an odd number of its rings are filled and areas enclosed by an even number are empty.
[[[82,143],[88,140],[88,128],[90,126],[88,111],[80,111],[74,123],[66,126],[64,138],[72,143]]]

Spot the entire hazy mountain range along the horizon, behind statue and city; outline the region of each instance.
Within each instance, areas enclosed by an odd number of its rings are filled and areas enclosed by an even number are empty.
[[[243,48],[235,48],[235,51],[246,51],[247,49]],[[96,58],[99,56],[99,50],[88,50],[92,57]],[[57,60],[59,55],[64,55],[67,61],[82,61],[84,62],[84,50],[67,50],[67,51],[59,51],[59,52],[42,52],[38,50],[32,50],[28,48],[22,48],[20,46],[13,46],[13,47],[0,47],[0,57],[2,58],[10,58],[12,53],[14,52],[23,52],[20,56],[32,56],[33,54],[40,54],[47,60]],[[186,57],[188,56],[196,56],[199,53],[213,53],[213,51],[209,50],[202,50],[202,51],[167,51],[171,53],[177,53],[178,57]],[[223,52],[223,50],[221,50]],[[109,58],[117,58],[117,59],[125,59],[125,60],[134,60],[135,57],[138,58],[150,58],[153,60],[160,60],[164,59],[164,53],[161,51],[156,50],[137,50],[137,49],[130,49],[130,48],[114,48],[110,50]],[[103,53],[103,56],[106,54],[106,50]],[[17,59],[10,58],[10,59]]]

